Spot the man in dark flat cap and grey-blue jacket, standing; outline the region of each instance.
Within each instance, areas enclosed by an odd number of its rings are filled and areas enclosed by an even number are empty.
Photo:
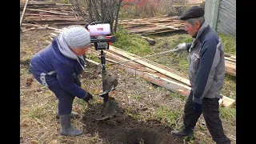
[[[219,98],[225,78],[223,46],[218,34],[205,22],[204,10],[193,6],[186,10],[180,20],[185,30],[194,38],[191,43],[181,43],[174,52],[189,52],[190,95],[186,100],[182,130],[172,130],[178,137],[192,137],[193,129],[201,114],[214,142],[228,144],[219,118]]]

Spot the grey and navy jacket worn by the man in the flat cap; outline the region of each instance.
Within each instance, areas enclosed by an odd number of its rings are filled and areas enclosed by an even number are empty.
[[[194,41],[186,44],[189,51],[189,77],[193,101],[201,104],[202,98],[222,98],[225,78],[222,42],[206,22],[198,30]]]

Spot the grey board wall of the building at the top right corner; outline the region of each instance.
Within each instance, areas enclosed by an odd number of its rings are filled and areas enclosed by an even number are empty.
[[[218,21],[216,31],[236,36],[235,0],[220,0],[218,7]]]

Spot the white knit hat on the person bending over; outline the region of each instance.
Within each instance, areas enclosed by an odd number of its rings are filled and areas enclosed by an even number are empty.
[[[72,48],[89,45],[90,32],[83,26],[69,26],[62,31],[66,43]]]

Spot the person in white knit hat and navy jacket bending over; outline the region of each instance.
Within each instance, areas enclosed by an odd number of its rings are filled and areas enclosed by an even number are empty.
[[[75,96],[85,102],[93,98],[81,88],[78,78],[78,74],[84,70],[84,55],[90,46],[90,33],[85,27],[69,26],[30,60],[30,71],[34,78],[58,98],[62,135],[77,136],[83,133],[83,130],[70,126],[70,118],[78,118],[77,113],[71,112]]]

